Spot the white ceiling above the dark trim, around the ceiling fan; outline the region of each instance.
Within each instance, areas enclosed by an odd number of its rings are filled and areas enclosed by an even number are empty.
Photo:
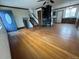
[[[38,8],[43,5],[43,2],[37,2],[38,0],[0,0],[0,5],[14,6],[21,8]],[[62,3],[79,1],[79,0],[54,0],[53,5],[58,5]]]

